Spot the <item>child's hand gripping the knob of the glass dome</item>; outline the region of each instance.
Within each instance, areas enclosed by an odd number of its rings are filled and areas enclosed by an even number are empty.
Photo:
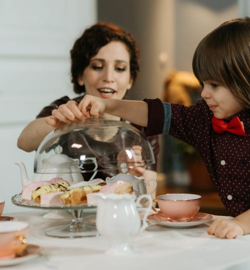
[[[78,105],[79,110],[85,117],[99,117],[105,110],[105,101],[103,98],[86,94]]]

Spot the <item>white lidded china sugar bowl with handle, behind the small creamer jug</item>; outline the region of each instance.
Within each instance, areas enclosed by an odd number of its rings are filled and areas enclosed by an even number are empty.
[[[137,177],[127,172],[127,166],[126,163],[121,163],[120,169],[122,173],[118,173],[117,175],[113,177],[106,177],[105,181],[107,184],[116,182],[118,180],[128,181],[133,186],[133,192],[135,195],[140,196],[142,194],[146,194],[146,186],[149,186],[150,182],[154,183],[154,186],[152,190],[150,191],[150,195],[153,193],[153,191],[157,187],[157,180],[156,178],[150,178],[147,181],[144,181],[144,178],[142,176]]]

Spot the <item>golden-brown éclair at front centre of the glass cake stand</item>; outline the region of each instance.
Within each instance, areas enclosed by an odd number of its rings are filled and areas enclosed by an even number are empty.
[[[101,185],[86,185],[81,187],[75,187],[68,191],[65,191],[61,195],[62,202],[64,204],[79,204],[87,202],[86,194],[99,192]]]

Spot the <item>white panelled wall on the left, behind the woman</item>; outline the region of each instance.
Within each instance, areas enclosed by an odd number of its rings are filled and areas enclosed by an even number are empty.
[[[16,146],[23,127],[40,109],[73,95],[69,49],[96,21],[95,0],[0,0],[0,199],[4,212],[25,210],[11,203],[21,191],[16,161],[31,178],[34,152]]]

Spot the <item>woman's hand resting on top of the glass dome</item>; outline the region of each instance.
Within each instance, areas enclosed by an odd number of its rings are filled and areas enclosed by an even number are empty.
[[[59,127],[79,120],[85,120],[85,116],[78,108],[78,103],[69,100],[65,104],[59,105],[57,109],[53,109],[50,116],[45,118],[45,122],[53,127]]]

